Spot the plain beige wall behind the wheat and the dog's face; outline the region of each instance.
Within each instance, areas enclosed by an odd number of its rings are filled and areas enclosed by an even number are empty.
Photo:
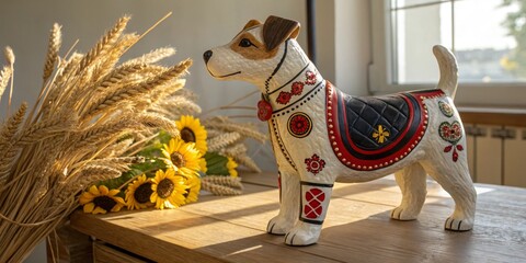
[[[89,50],[123,14],[133,16],[128,32],[141,33],[169,11],[173,11],[173,14],[132,48],[127,57],[157,47],[173,46],[178,54],[167,62],[174,64],[186,57],[193,58],[194,66],[187,77],[186,87],[201,94],[199,102],[205,110],[222,105],[253,90],[247,83],[219,82],[210,78],[202,61],[205,50],[229,42],[250,19],[264,21],[268,14],[275,14],[306,24],[302,0],[2,1],[0,47],[10,45],[16,55],[14,100],[20,103],[22,100],[34,101],[36,98],[41,87],[47,38],[54,22],[64,25],[64,55],[76,39],[80,39],[78,50]],[[299,41],[305,43],[305,34]],[[5,107],[1,106],[0,116],[4,113]]]

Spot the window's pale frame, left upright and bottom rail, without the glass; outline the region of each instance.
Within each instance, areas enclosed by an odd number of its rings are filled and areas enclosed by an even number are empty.
[[[409,90],[434,89],[436,83],[393,83],[391,41],[391,1],[371,1],[371,60],[369,65],[369,92],[387,94]],[[430,47],[430,56],[433,56]],[[459,75],[462,69],[459,68]],[[438,72],[437,72],[438,75]],[[526,107],[526,82],[462,83],[455,98],[457,106]]]

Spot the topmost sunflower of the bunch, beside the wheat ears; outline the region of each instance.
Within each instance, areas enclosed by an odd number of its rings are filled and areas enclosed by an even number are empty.
[[[194,118],[190,115],[181,116],[180,121],[175,121],[178,129],[181,132],[181,138],[185,142],[194,142],[195,148],[199,150],[201,155],[205,155],[208,150],[206,146],[206,129],[198,118]]]

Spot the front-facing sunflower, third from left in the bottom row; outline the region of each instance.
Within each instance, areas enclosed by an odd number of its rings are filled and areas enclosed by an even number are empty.
[[[184,178],[175,175],[175,171],[168,169],[167,172],[159,170],[156,178],[151,180],[150,202],[156,204],[156,208],[174,208],[184,205],[187,185],[184,184]]]

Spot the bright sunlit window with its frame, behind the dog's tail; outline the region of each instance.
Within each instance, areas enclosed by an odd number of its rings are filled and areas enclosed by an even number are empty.
[[[526,106],[526,3],[523,2],[373,1],[371,91],[433,88],[439,76],[431,48],[441,44],[457,57],[457,104]]]

